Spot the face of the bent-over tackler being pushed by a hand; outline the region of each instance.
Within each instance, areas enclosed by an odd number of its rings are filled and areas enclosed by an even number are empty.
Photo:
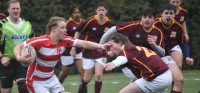
[[[110,47],[110,51],[107,52],[107,55],[111,56],[111,57],[118,56],[119,53],[122,51],[121,48],[122,48],[122,44],[112,42],[111,47]]]

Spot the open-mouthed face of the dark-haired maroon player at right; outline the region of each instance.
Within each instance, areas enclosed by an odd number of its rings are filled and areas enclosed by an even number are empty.
[[[173,10],[164,10],[161,13],[162,21],[165,24],[171,24],[172,20],[175,17],[175,12]]]

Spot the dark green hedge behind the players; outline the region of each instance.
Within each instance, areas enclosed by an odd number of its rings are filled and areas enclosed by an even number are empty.
[[[7,13],[8,0],[0,1],[0,12]],[[108,17],[115,23],[131,20],[139,20],[139,12],[146,6],[152,6],[157,10],[168,0],[20,0],[22,13],[21,17],[29,20],[36,35],[45,33],[45,25],[51,16],[62,16],[68,18],[70,5],[78,3],[84,9],[83,18],[95,14],[98,2],[105,2],[109,7]],[[183,0],[182,7],[190,12],[187,18],[188,33],[190,35],[191,56],[195,59],[195,65],[184,69],[200,69],[200,0]],[[159,13],[158,13],[159,15]]]

